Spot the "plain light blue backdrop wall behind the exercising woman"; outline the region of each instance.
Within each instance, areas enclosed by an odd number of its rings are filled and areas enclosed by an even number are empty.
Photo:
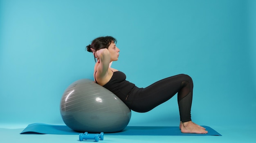
[[[112,67],[138,87],[189,74],[192,120],[207,126],[256,120],[254,0],[0,0],[0,124],[63,124],[60,99],[92,79],[94,38],[117,38]],[[177,97],[131,126],[177,126]]]

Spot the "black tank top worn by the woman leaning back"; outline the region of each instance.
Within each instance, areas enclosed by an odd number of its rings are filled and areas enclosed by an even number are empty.
[[[135,85],[126,80],[126,75],[123,72],[117,71],[113,72],[113,76],[103,87],[117,95],[121,100],[124,100]]]

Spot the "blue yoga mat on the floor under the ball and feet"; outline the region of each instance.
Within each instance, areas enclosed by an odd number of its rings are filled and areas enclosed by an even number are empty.
[[[212,128],[203,126],[208,131],[208,134],[187,134],[181,133],[179,127],[171,126],[127,126],[121,132],[104,133],[106,135],[141,135],[141,136],[222,136]],[[78,135],[81,132],[75,132],[65,125],[49,125],[35,123],[30,124],[20,134],[74,134]]]

